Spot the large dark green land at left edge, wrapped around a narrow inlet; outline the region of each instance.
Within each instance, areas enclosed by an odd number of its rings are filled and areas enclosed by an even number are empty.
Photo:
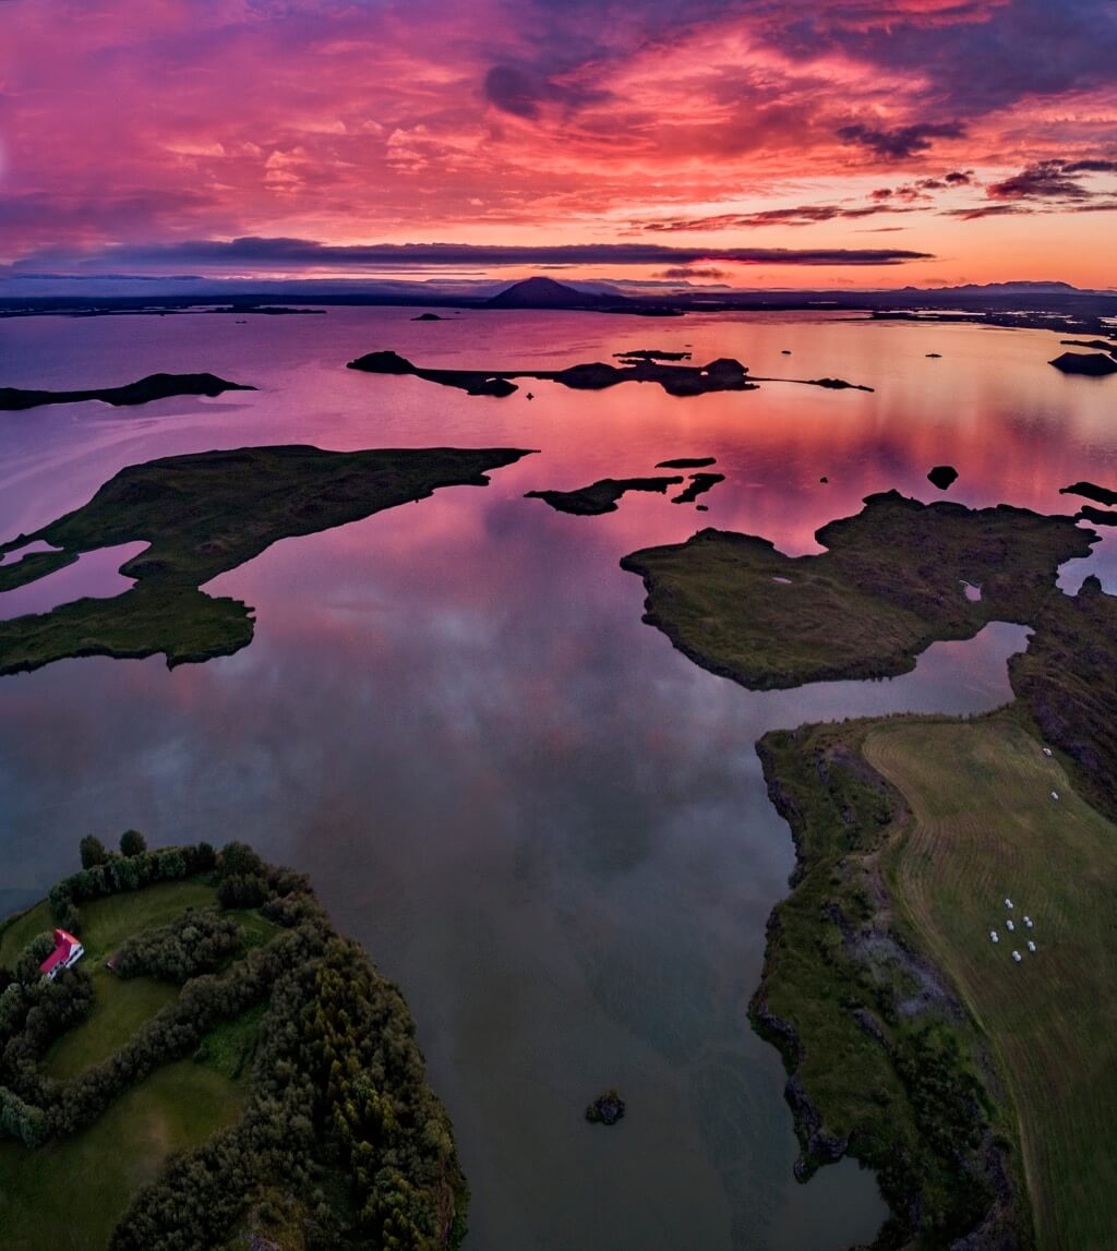
[[[169,666],[229,656],[251,642],[251,609],[205,594],[199,589],[204,583],[278,539],[360,520],[425,499],[440,487],[483,487],[487,470],[527,454],[510,448],[323,452],[289,445],[130,465],[88,504],[0,544],[0,555],[31,542],[58,549],[0,565],[0,590],[45,577],[83,552],[136,539],[150,544],[120,568],[136,580],[130,590],[0,622],[0,674],[71,656],[161,652]],[[33,565],[25,572],[28,560]]]

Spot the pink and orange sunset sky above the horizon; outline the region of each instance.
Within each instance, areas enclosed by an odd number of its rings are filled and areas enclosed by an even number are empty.
[[[0,23],[0,276],[539,268],[344,250],[439,241],[595,245],[569,276],[1117,286],[1112,0],[6,0]]]

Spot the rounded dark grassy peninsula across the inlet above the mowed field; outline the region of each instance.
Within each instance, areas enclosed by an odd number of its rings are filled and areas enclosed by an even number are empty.
[[[972,638],[993,620],[1031,623],[1059,564],[1097,542],[1069,517],[921,504],[897,492],[868,497],[816,538],[827,552],[787,557],[767,539],[705,529],[620,567],[644,579],[644,620],[679,651],[769,691],[892,677],[938,639]],[[963,582],[981,598],[967,598]]]

